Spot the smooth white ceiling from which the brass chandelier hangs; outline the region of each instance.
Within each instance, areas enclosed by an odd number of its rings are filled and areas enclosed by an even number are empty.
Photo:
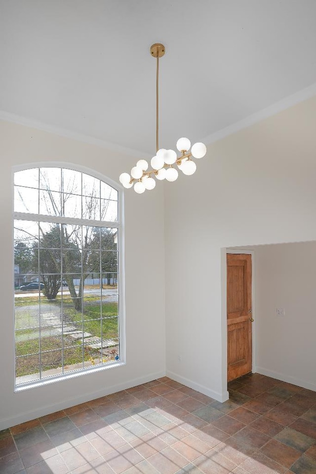
[[[156,152],[316,82],[315,0],[0,0],[0,110]]]

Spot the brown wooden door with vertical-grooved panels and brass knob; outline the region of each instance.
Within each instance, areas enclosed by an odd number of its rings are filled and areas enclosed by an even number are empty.
[[[227,380],[252,369],[251,255],[227,254]]]

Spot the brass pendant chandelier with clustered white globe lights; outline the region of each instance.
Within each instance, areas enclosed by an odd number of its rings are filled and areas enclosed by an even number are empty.
[[[179,138],[176,147],[181,155],[178,157],[174,150],[159,149],[158,145],[158,79],[159,79],[159,58],[164,55],[165,47],[163,44],[155,43],[150,48],[151,55],[157,58],[157,73],[156,73],[156,149],[157,154],[151,159],[151,166],[153,169],[148,171],[148,162],[145,159],[137,161],[136,166],[131,169],[130,174],[122,173],[119,176],[120,183],[124,188],[132,188],[136,193],[141,194],[144,191],[154,189],[156,181],[166,179],[167,181],[175,181],[178,178],[177,167],[186,175],[193,174],[197,165],[193,161],[194,158],[203,158],[206,154],[206,147],[204,143],[195,143],[190,152],[191,142],[188,138]]]

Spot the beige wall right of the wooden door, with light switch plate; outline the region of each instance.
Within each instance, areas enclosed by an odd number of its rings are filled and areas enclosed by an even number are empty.
[[[256,369],[316,390],[316,242],[254,252]]]

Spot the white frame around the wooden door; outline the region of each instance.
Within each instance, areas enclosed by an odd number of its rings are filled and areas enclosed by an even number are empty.
[[[221,249],[221,287],[222,287],[222,393],[227,392],[227,253],[251,255],[251,298],[252,298],[252,372],[256,372],[256,300],[255,300],[255,251],[243,247],[224,247]]]

